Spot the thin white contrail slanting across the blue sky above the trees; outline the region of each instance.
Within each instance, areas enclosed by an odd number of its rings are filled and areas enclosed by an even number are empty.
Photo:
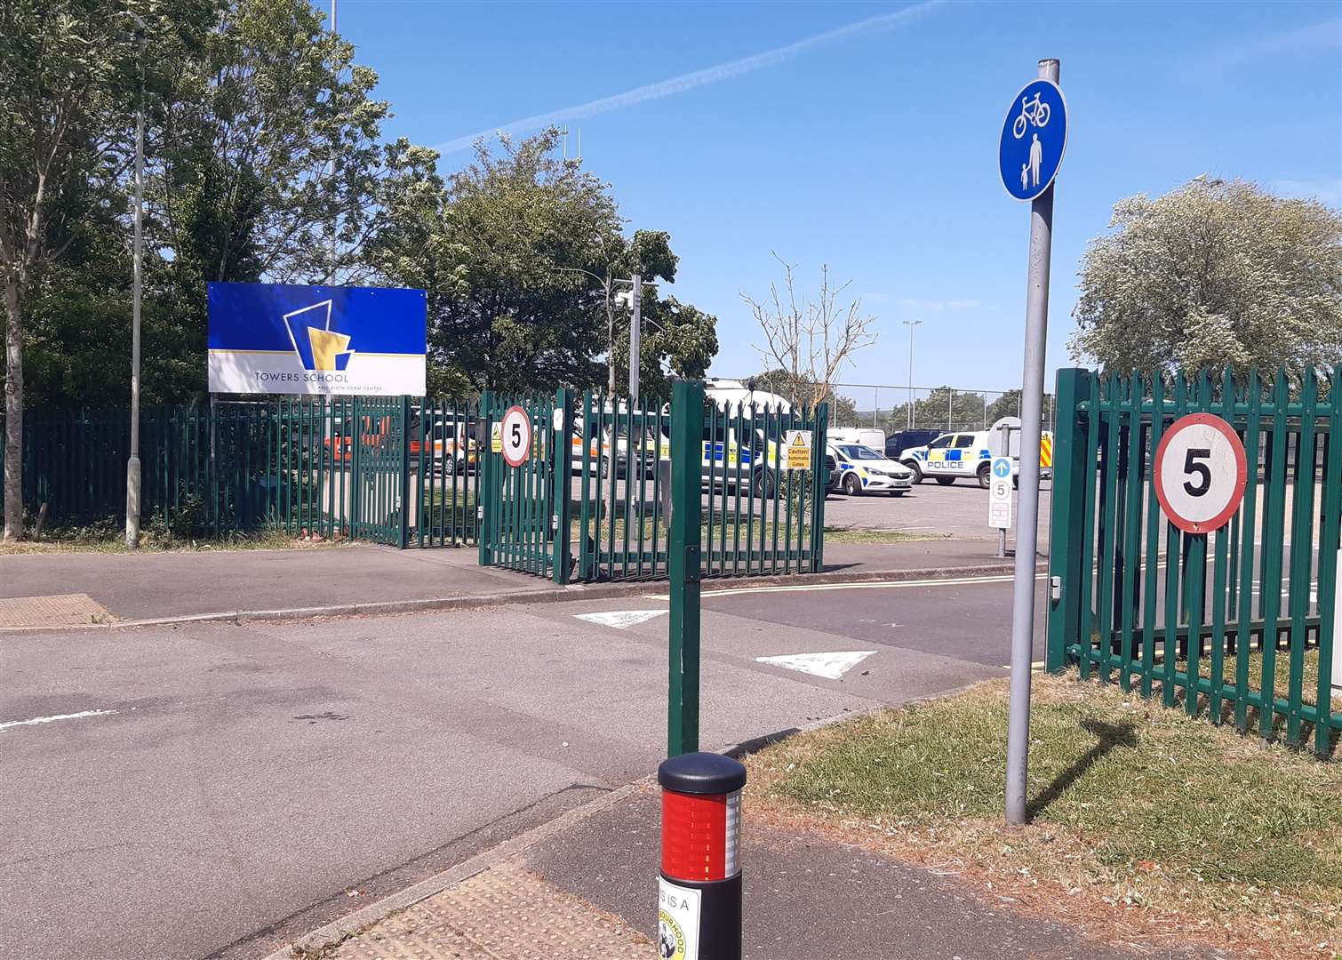
[[[623,94],[615,94],[613,97],[603,97],[601,99],[595,99],[588,103],[580,103],[578,106],[564,107],[562,110],[553,110],[550,113],[541,113],[535,117],[526,117],[525,119],[517,119],[511,124],[503,126],[491,128],[488,130],[480,130],[479,133],[472,133],[466,137],[458,137],[456,140],[450,140],[446,144],[439,144],[433,149],[439,153],[455,153],[456,150],[464,150],[471,144],[474,144],[480,137],[493,137],[499,133],[525,133],[527,130],[539,130],[552,124],[562,124],[570,119],[582,119],[584,117],[593,117],[599,113],[609,113],[611,110],[620,110],[627,106],[633,106],[635,103],[643,103],[650,99],[660,99],[663,97],[674,97],[675,94],[684,93],[686,90],[694,90],[695,87],[703,87],[710,83],[721,83],[722,81],[729,81],[733,77],[741,77],[742,74],[750,74],[756,70],[764,70],[765,67],[773,67],[786,60],[801,56],[803,54],[811,52],[820,47],[828,47],[835,43],[843,43],[854,36],[862,34],[880,34],[922,16],[923,13],[931,11],[935,7],[942,5],[943,0],[929,0],[927,3],[919,3],[913,7],[906,7],[905,9],[896,11],[894,13],[882,13],[880,16],[872,16],[866,20],[859,20],[858,23],[851,23],[847,27],[837,27],[835,30],[827,30],[824,34],[817,34],[815,36],[807,38],[805,40],[797,40],[796,43],[789,43],[786,47],[777,47],[776,50],[766,50],[762,54],[756,54],[754,56],[746,56],[739,60],[731,60],[730,63],[719,63],[715,67],[706,67],[703,70],[695,70],[690,74],[682,74],[680,77],[672,77],[668,81],[660,81],[658,83],[648,83],[647,86],[635,87],[633,90],[625,90]]]

